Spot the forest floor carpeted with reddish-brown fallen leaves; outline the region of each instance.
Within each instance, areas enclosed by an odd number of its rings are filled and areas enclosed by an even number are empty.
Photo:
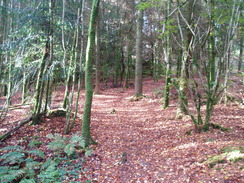
[[[92,180],[104,183],[203,183],[244,182],[243,159],[231,162],[225,159],[213,167],[204,163],[224,149],[244,148],[244,107],[235,103],[218,104],[211,122],[221,124],[229,131],[211,129],[209,132],[186,132],[194,129],[189,117],[176,119],[177,96],[172,94],[170,107],[162,108],[160,92],[163,81],[152,79],[143,82],[144,97],[133,99],[133,88],[107,87],[94,95],[91,114],[92,137],[98,142],[92,155],[83,165],[86,171],[78,181]],[[61,104],[62,86],[55,92],[54,106]],[[243,91],[243,85],[237,91]],[[241,96],[244,97],[243,95]],[[16,97],[15,103],[20,100]],[[84,91],[80,97],[75,128],[81,131]],[[28,116],[28,106],[11,110],[0,124],[0,135],[16,124],[9,123]],[[24,145],[33,136],[47,141],[50,133],[64,134],[65,117],[45,118],[37,126],[26,125],[1,146]],[[43,144],[43,145],[44,145]],[[43,146],[44,147],[44,146]]]

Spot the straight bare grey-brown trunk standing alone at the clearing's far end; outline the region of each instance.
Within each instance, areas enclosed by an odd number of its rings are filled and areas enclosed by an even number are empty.
[[[139,9],[136,30],[136,72],[135,72],[135,97],[142,96],[142,27],[143,10]]]

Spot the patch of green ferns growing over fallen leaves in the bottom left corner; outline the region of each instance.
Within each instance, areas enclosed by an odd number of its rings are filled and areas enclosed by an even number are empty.
[[[47,158],[38,150],[41,144],[35,138],[28,144],[28,149],[21,146],[7,146],[0,150],[0,182],[4,183],[62,183],[73,182],[82,173],[84,157],[78,152],[85,152],[85,157],[91,150],[85,148],[82,136],[75,134],[71,138],[59,134],[48,135],[52,141],[47,148],[53,150],[54,157]]]

